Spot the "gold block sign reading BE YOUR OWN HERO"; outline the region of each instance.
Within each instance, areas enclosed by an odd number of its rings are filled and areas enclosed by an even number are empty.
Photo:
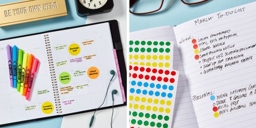
[[[24,0],[0,5],[0,27],[67,15],[65,0]]]

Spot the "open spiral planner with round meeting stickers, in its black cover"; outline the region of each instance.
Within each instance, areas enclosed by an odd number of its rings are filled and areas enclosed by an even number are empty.
[[[10,86],[6,46],[40,64],[30,99]],[[116,20],[0,40],[0,126],[126,105],[126,68]],[[119,66],[120,65],[120,66]],[[124,86],[124,87],[123,87]]]

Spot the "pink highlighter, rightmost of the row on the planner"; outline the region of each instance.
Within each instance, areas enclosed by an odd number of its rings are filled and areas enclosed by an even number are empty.
[[[29,77],[29,84],[28,84],[28,90],[26,93],[26,100],[29,100],[29,96],[30,96],[30,92],[31,92],[32,84],[33,84],[33,79],[35,77],[35,73],[37,72],[38,64],[39,64],[39,61],[37,58],[35,58],[35,60],[33,62],[32,70],[31,70],[31,74]]]

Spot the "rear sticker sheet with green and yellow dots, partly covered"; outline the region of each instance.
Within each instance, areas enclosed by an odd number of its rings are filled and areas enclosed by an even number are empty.
[[[173,42],[130,41],[130,64],[172,69]]]

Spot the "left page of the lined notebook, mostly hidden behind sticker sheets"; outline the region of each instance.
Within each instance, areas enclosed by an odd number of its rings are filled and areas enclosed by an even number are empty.
[[[164,26],[131,32],[130,40],[158,40],[174,42],[173,69],[180,71],[180,74],[177,85],[172,128],[198,128],[173,28],[171,26]]]

